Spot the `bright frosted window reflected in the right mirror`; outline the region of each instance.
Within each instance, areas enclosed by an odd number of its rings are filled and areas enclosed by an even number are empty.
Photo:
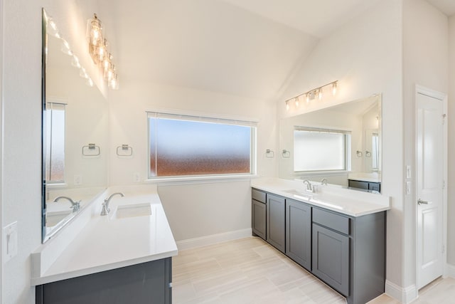
[[[348,169],[348,132],[294,130],[294,172]]]

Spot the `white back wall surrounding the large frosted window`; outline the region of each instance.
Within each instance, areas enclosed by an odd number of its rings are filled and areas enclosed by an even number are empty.
[[[141,180],[147,177],[147,110],[256,120],[257,174],[269,177],[277,174],[277,157],[265,157],[267,149],[277,152],[274,103],[156,83],[125,81],[121,85],[121,90],[109,96],[109,168],[112,185],[132,184],[136,172]],[[122,144],[133,148],[132,157],[117,157],[115,150]],[[221,183],[176,183],[159,187],[161,201],[177,241],[250,229],[249,193],[250,182],[245,179]],[[188,216],[187,211],[193,216]],[[214,221],[213,216],[221,211],[223,221]]]

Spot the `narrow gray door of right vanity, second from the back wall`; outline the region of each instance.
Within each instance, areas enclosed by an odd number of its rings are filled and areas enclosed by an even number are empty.
[[[267,242],[284,253],[284,198],[267,193]]]

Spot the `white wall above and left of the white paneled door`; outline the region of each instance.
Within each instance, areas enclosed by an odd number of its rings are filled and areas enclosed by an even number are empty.
[[[448,21],[447,17],[424,0],[403,2],[403,98],[405,122],[405,164],[412,167],[412,194],[405,195],[405,234],[403,251],[403,286],[416,284],[416,201],[415,189],[415,85],[442,93],[448,90]],[[450,167],[449,167],[450,168]],[[449,169],[449,171],[451,171]],[[450,187],[449,187],[450,189]],[[451,236],[453,237],[453,236]],[[449,243],[454,241],[450,241]]]

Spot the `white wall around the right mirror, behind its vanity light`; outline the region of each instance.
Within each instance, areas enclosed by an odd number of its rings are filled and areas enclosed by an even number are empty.
[[[403,287],[403,112],[402,112],[402,2],[378,1],[363,16],[353,19],[324,38],[297,73],[277,103],[279,117],[308,108],[365,98],[382,93],[382,185],[392,198],[387,212],[387,282]],[[309,71],[311,71],[309,73]],[[339,80],[336,98],[291,108],[284,100],[319,85]],[[400,292],[400,290],[399,290]]]

